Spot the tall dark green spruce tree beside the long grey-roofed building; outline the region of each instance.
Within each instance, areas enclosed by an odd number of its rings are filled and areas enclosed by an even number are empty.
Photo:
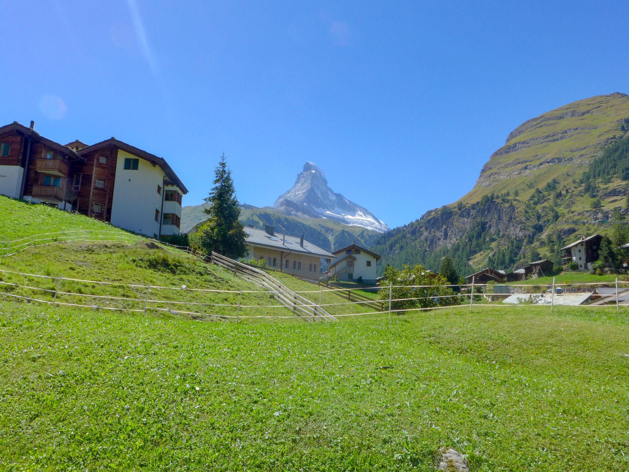
[[[199,243],[206,252],[218,252],[230,257],[247,255],[245,227],[238,221],[240,205],[225,162],[225,153],[214,171],[214,188],[205,199],[210,206],[205,213],[209,220],[199,228]]]

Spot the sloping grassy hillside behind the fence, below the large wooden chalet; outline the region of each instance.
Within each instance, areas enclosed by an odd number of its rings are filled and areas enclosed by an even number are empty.
[[[5,238],[18,239],[43,232],[59,230],[113,230],[107,223],[50,208],[45,205],[30,205],[21,201],[0,198],[0,211],[10,218],[0,218],[0,233]],[[150,300],[176,300],[186,303],[176,305],[167,303],[148,303],[149,307],[182,312],[205,313],[216,316],[235,316],[239,300],[238,293],[215,293],[179,289],[217,289],[231,291],[261,291],[259,286],[243,281],[222,267],[199,262],[189,254],[168,251],[148,240],[136,244],[124,242],[64,242],[41,247],[32,247],[14,256],[0,258],[0,269],[20,273],[34,273],[53,278],[64,277],[79,280],[103,281],[114,284],[86,284],[81,281],[63,281],[60,291],[106,295],[109,297],[135,298],[136,300],[118,300],[116,298],[94,298],[77,295],[58,295],[57,301],[81,305],[98,305],[103,308],[126,308],[143,310],[146,290],[151,285],[172,287],[172,289],[153,288]],[[285,274],[270,271],[272,276],[296,291],[317,291],[315,284],[301,281]],[[40,289],[55,290],[56,281],[46,278],[30,278],[10,273],[0,273],[0,291],[12,295],[53,300],[53,293],[33,289],[18,288],[10,284],[26,285]],[[140,287],[128,287],[115,283],[136,284]],[[319,294],[304,294],[306,298],[318,303]],[[267,293],[244,293],[242,305],[269,306],[279,303]],[[325,294],[323,303],[338,303],[342,298],[332,293]],[[204,303],[206,305],[195,305]],[[157,313],[156,310],[149,310]],[[361,305],[330,306],[330,313],[364,313],[369,310]],[[119,312],[115,312],[116,314]],[[247,316],[291,316],[287,308],[241,308],[240,315]],[[196,315],[184,315],[196,317]],[[215,319],[200,317],[201,319]],[[296,322],[301,322],[297,321]]]

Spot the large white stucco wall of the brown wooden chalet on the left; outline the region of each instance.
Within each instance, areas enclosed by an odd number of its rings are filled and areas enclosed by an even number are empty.
[[[136,171],[125,170],[126,158],[139,159]],[[164,185],[164,176],[161,167],[153,166],[148,160],[118,150],[111,224],[150,237],[153,234],[159,235],[159,222],[155,221],[155,210],[160,211],[161,219],[162,195],[157,193],[157,186]]]

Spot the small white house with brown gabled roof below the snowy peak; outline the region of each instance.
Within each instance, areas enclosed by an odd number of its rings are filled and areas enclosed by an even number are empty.
[[[332,252],[338,259],[328,268],[328,279],[356,281],[359,277],[365,284],[376,284],[376,262],[380,255],[352,243]]]

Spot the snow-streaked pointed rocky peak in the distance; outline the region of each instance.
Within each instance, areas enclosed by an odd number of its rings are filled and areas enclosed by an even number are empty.
[[[306,162],[294,186],[277,198],[273,208],[286,215],[330,218],[377,232],[389,230],[367,208],[353,203],[329,186],[325,175],[313,162]]]

